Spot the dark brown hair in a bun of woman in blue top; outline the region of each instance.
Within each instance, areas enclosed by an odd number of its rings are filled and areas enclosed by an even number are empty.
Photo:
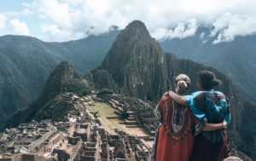
[[[215,78],[215,74],[210,71],[201,71],[198,73],[198,81],[204,90],[211,90],[213,87],[218,87],[222,82]]]

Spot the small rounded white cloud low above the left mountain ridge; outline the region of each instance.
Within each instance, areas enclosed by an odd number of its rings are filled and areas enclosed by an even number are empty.
[[[20,21],[18,19],[10,20],[9,26],[11,31],[16,35],[26,35],[29,36],[29,30],[26,26],[26,22]]]

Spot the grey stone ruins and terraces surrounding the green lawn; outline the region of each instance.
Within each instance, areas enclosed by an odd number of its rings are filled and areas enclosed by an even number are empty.
[[[0,161],[151,160],[152,145],[145,142],[154,141],[158,121],[150,103],[121,95],[68,95],[75,107],[67,113],[68,121],[33,120],[5,129],[0,134]],[[87,108],[96,102],[112,106],[126,128],[141,128],[148,135],[108,131],[98,119],[99,113]]]

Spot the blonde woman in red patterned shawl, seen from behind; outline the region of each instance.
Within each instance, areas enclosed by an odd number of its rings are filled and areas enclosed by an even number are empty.
[[[175,88],[179,95],[184,95],[189,88],[190,79],[184,74],[176,78]],[[154,141],[154,158],[156,161],[189,161],[195,140],[195,133],[201,130],[225,128],[226,124],[207,124],[199,122],[189,107],[181,106],[165,94],[154,110],[160,118],[160,126]]]

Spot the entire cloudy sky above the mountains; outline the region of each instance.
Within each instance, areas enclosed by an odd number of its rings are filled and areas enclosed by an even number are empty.
[[[193,36],[214,26],[213,43],[256,33],[255,0],[4,0],[0,36],[7,34],[63,42],[123,29],[142,20],[156,39]]]

